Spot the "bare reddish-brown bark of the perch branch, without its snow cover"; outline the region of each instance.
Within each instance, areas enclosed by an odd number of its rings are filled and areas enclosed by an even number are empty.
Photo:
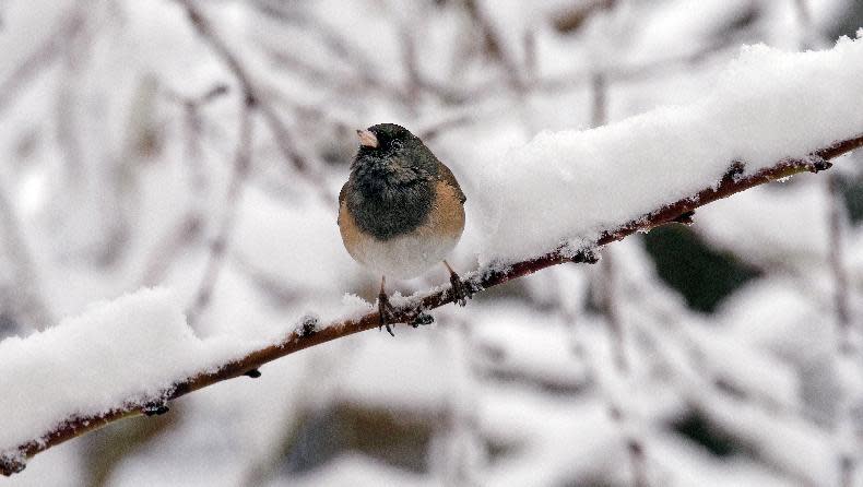
[[[828,162],[829,159],[861,146],[863,146],[863,133],[851,139],[837,141],[829,146],[816,150],[801,158],[778,161],[775,165],[752,175],[743,174],[743,163],[732,162],[729,171],[718,185],[707,187],[691,197],[671,202],[639,218],[626,222],[616,228],[602,231],[596,236],[595,247],[593,248],[579,250],[559,247],[542,256],[515,262],[505,268],[483,268],[468,275],[466,283],[475,290],[482,292],[552,265],[563,263],[594,263],[598,261],[595,252],[601,247],[620,240],[635,233],[648,231],[661,225],[688,222],[696,209],[749,188],[800,173],[818,173],[828,169],[831,166]],[[394,321],[410,323],[419,312],[439,308],[449,302],[452,302],[449,288],[415,295],[395,307],[393,313]],[[97,416],[69,417],[54,431],[42,438],[19,446],[15,455],[7,454],[0,456],[0,473],[3,475],[11,475],[20,472],[24,468],[24,462],[27,458],[72,438],[98,429],[109,423],[142,414],[153,415],[165,413],[167,412],[165,401],[175,400],[217,382],[247,375],[247,372],[250,371],[257,371],[262,365],[284,357],[285,355],[354,333],[377,329],[378,320],[378,313],[376,311],[370,311],[359,318],[330,323],[319,331],[312,325],[314,323],[302,323],[276,345],[261,348],[240,359],[226,363],[215,371],[202,371],[177,382],[170,390],[164,391],[163,394],[161,394],[161,397],[163,397],[162,402],[150,402],[146,404],[128,403],[118,405],[115,409]],[[255,375],[250,373],[250,376]]]

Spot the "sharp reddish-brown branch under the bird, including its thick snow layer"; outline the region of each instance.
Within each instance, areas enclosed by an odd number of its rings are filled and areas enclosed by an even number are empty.
[[[863,146],[863,40],[827,51],[744,50],[716,90],[582,132],[543,134],[497,165],[472,168],[489,201],[477,290],[568,262],[637,231],[688,223],[695,209]],[[334,207],[334,206],[333,206]],[[529,229],[529,231],[525,231]],[[449,288],[394,299],[397,321],[451,302]],[[117,419],[161,414],[189,392],[279,357],[375,329],[371,307],[307,318],[281,336],[200,340],[181,306],[144,290],[26,338],[0,343],[0,472]],[[338,310],[342,312],[342,310]]]

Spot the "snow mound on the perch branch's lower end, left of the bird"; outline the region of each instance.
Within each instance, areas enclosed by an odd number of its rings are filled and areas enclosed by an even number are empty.
[[[144,289],[92,306],[26,338],[0,342],[0,452],[39,439],[70,416],[156,401],[172,384],[243,353],[202,342],[172,294]]]

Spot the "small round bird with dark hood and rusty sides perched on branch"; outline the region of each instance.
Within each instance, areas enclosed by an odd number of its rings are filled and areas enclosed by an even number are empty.
[[[415,277],[442,262],[457,304],[471,289],[444,260],[464,229],[464,193],[423,141],[394,123],[357,130],[359,152],[339,193],[339,229],[351,257],[381,274],[380,325],[392,334],[387,276]]]

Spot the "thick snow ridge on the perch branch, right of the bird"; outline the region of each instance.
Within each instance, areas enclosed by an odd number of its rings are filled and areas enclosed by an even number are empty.
[[[489,223],[473,250],[484,262],[513,261],[596,238],[717,183],[734,161],[750,174],[859,135],[861,80],[861,39],[802,54],[752,46],[700,102],[593,130],[541,133],[471,166],[487,201],[478,211],[469,204],[468,221]]]

